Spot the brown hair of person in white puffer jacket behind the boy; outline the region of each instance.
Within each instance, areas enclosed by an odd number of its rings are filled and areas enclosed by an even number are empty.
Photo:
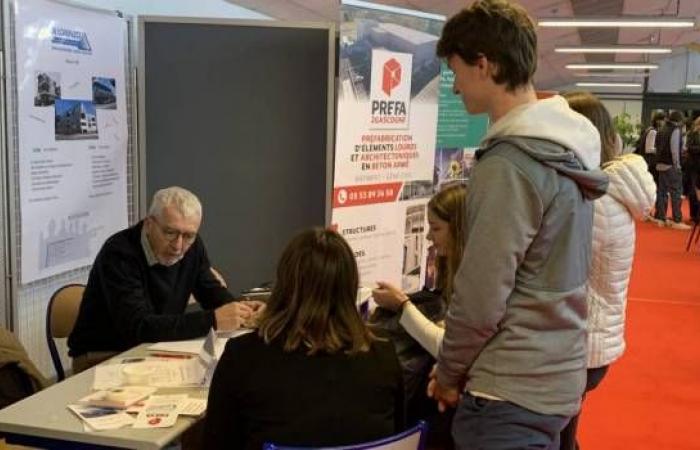
[[[590,120],[600,133],[600,164],[620,156],[615,145],[615,128],[610,113],[590,92],[568,92],[563,95],[569,107]]]

